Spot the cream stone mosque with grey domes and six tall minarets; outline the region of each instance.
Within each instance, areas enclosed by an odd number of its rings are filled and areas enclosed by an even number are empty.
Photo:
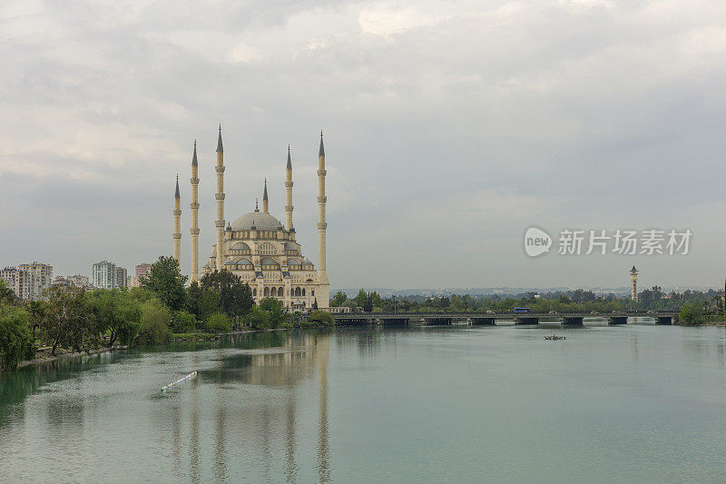
[[[241,215],[233,222],[224,218],[224,149],[220,134],[217,140],[217,202],[216,243],[211,248],[208,262],[202,267],[202,275],[214,271],[229,271],[250,284],[255,302],[274,297],[282,301],[290,311],[306,310],[317,306],[329,308],[328,272],[325,268],[325,149],[320,132],[318,153],[318,270],[302,254],[302,247],[295,239],[292,225],[292,162],[288,146],[288,164],[285,169],[285,224],[270,214],[267,180],[262,194],[262,211],[255,202],[254,212]],[[197,143],[191,156],[191,282],[200,280],[199,272],[199,172]],[[181,197],[179,177],[174,193],[174,259],[181,259]]]

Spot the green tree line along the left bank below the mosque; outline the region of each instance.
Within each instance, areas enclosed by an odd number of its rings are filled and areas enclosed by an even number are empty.
[[[52,286],[43,301],[19,301],[0,280],[0,367],[15,369],[44,346],[55,355],[59,349],[159,344],[171,341],[173,333],[333,324],[324,311],[291,315],[275,298],[256,305],[250,286],[231,272],[205,274],[189,287],[186,282],[173,257],[160,257],[142,287],[130,290]]]

